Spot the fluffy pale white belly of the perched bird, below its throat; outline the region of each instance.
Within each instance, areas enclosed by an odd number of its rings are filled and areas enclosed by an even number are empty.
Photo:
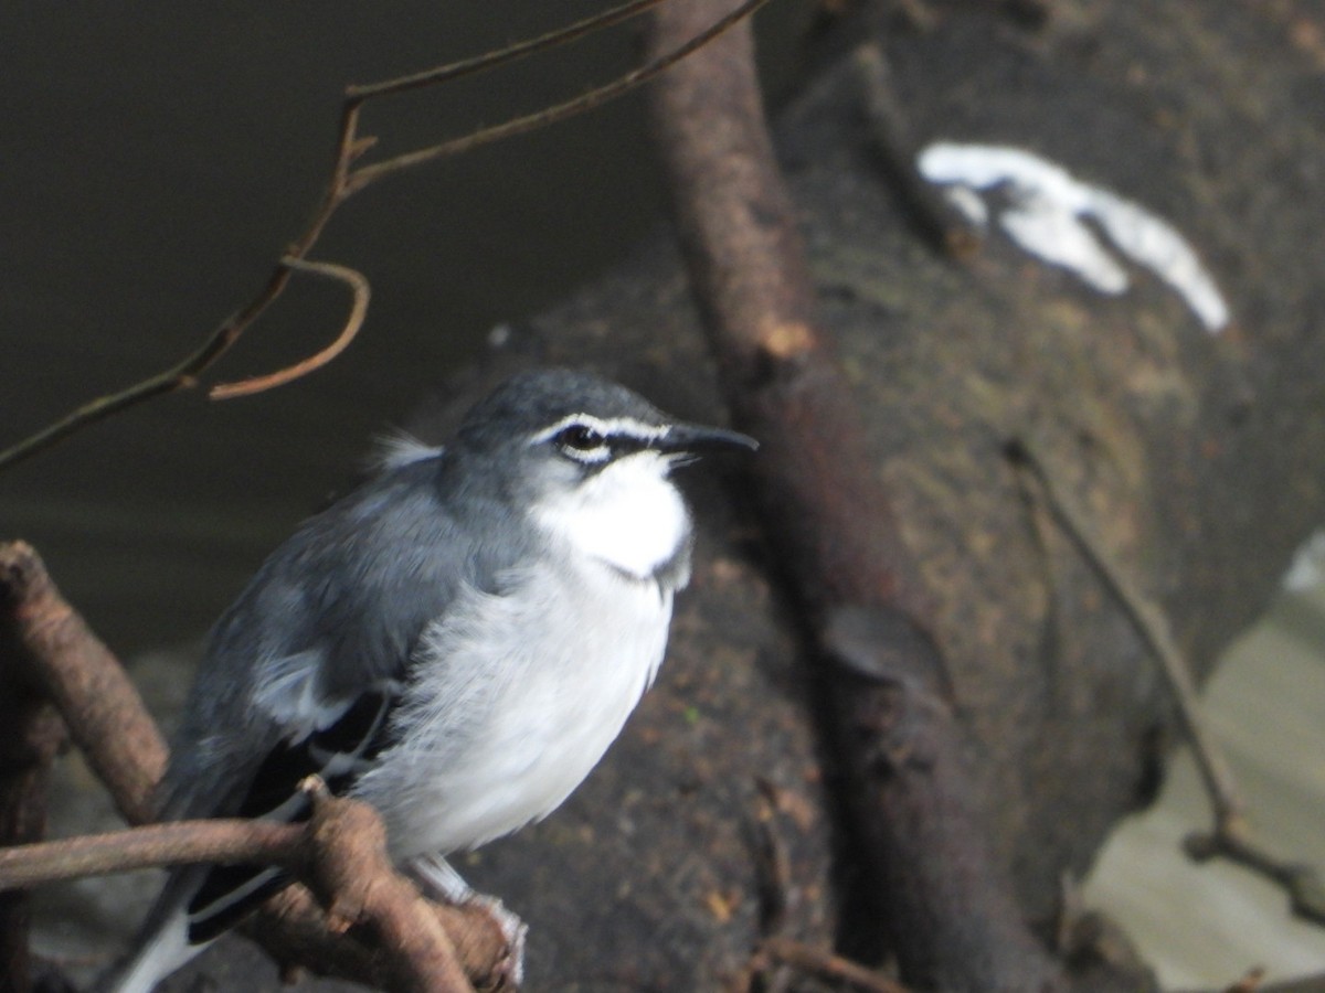
[[[448,616],[466,621],[424,638],[396,715],[409,744],[354,790],[383,813],[396,859],[474,847],[555,810],[657,673],[670,589],[579,557],[539,572],[510,596],[462,594]]]

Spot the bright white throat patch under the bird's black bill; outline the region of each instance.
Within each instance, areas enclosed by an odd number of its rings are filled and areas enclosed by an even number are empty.
[[[670,561],[690,531],[690,514],[668,469],[669,459],[656,451],[627,455],[541,500],[534,520],[578,552],[648,579]]]

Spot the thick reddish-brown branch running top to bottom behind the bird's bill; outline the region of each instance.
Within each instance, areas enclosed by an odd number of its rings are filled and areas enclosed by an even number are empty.
[[[668,46],[714,0],[655,13]],[[852,828],[902,977],[939,989],[1061,989],[1011,873],[988,846],[945,700],[925,584],[867,449],[853,391],[816,319],[796,212],[778,171],[749,25],[653,87],[682,249],[753,470],[766,532],[815,626],[847,765]],[[884,332],[884,328],[880,328]]]

